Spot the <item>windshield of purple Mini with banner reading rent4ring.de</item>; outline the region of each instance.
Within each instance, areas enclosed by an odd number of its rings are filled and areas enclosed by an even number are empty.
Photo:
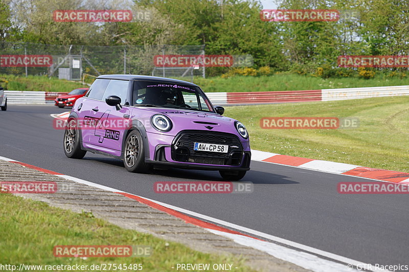
[[[135,81],[132,105],[213,112],[198,87],[175,83]]]

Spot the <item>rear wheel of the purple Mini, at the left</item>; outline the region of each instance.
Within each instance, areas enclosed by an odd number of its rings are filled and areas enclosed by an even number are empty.
[[[69,119],[64,131],[63,150],[65,156],[72,159],[82,159],[86,151],[81,149],[80,135],[77,128],[77,121]]]

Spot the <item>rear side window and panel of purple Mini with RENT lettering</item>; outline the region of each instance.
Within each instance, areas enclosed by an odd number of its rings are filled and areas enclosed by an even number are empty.
[[[99,107],[101,107],[102,96],[109,84],[109,79],[96,79],[89,87],[81,103],[76,103],[77,113],[82,122],[82,142],[89,143],[90,134],[94,133],[94,127],[98,121]]]

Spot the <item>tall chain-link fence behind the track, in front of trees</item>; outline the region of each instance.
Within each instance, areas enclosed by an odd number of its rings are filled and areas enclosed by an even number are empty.
[[[160,77],[206,76],[206,67],[252,66],[249,55],[205,54],[204,45],[85,46],[0,42],[0,74],[81,80],[131,73]]]

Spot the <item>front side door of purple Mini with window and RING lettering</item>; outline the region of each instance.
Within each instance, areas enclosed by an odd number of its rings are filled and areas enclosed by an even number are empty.
[[[110,150],[121,151],[122,138],[126,130],[126,123],[130,115],[130,100],[128,94],[131,82],[127,80],[110,80],[102,101],[99,102],[98,112],[95,116],[99,118],[99,125],[94,131],[90,131],[89,142],[94,145],[105,147]],[[121,98],[121,108],[109,106],[105,103],[105,98],[116,95]],[[127,104],[127,105],[126,105]]]

